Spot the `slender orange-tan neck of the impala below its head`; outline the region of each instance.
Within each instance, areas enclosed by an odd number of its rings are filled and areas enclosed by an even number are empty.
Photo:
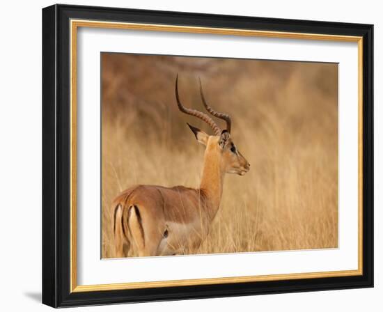
[[[206,208],[210,219],[215,217],[219,209],[225,176],[225,171],[221,166],[221,153],[217,148],[217,143],[208,143],[206,146],[200,185],[200,189],[206,196]]]

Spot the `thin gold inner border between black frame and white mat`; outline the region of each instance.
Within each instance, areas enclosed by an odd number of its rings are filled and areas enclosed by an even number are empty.
[[[209,33],[231,36],[257,36],[303,40],[357,42],[358,44],[358,270],[331,272],[307,272],[257,276],[234,276],[211,279],[183,279],[131,283],[107,283],[77,285],[77,29],[91,27],[102,29],[130,29],[141,31],[169,31],[177,33]],[[244,283],[254,281],[283,281],[288,279],[314,279],[363,274],[363,38],[320,33],[292,33],[283,31],[258,31],[225,29],[200,26],[162,24],[138,24],[128,22],[103,22],[97,20],[70,20],[70,292],[100,290],[127,290],[174,286],[197,286],[220,283]]]

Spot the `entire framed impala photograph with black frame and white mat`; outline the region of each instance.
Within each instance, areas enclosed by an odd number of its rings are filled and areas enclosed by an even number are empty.
[[[373,287],[373,25],[42,10],[42,302]]]

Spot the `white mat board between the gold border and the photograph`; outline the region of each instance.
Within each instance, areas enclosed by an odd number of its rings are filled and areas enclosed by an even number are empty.
[[[206,40],[214,44],[206,47]],[[79,285],[357,270],[357,42],[80,28],[77,46],[77,143],[81,164],[77,176]],[[100,260],[100,52],[103,51],[339,63],[339,248]]]

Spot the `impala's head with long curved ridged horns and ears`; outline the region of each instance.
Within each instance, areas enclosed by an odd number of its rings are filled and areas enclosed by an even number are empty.
[[[196,136],[196,139],[199,143],[206,146],[205,155],[216,157],[219,160],[219,165],[221,169],[223,169],[226,173],[237,173],[240,176],[243,176],[244,173],[247,173],[250,169],[250,164],[247,162],[247,159],[243,157],[240,151],[235,146],[235,143],[231,139],[230,131],[231,131],[231,118],[227,114],[219,113],[214,111],[212,107],[208,105],[205,100],[202,91],[202,85],[200,81],[200,93],[201,99],[205,109],[217,118],[221,118],[226,121],[226,130],[221,130],[217,123],[208,116],[208,114],[204,114],[201,111],[197,111],[196,109],[189,109],[184,107],[180,102],[180,95],[178,94],[178,76],[175,79],[175,98],[177,100],[178,109],[185,114],[195,116],[205,121],[213,130],[214,134],[209,135],[197,127],[193,127],[189,125],[190,129]]]

